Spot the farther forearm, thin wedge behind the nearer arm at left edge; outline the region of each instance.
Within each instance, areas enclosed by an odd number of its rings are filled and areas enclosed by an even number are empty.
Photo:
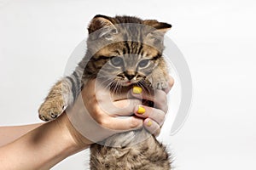
[[[0,147],[4,144],[9,144],[10,142],[15,141],[15,139],[20,138],[22,135],[41,125],[43,125],[43,123],[23,126],[0,127]]]

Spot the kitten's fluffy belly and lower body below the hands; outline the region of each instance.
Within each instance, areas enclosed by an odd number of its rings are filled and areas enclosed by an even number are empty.
[[[131,138],[145,138],[137,144],[127,144],[125,147],[108,147],[92,144],[90,147],[90,169],[92,170],[169,170],[170,157],[165,146],[160,144],[152,135],[143,130],[116,134],[107,143]],[[131,142],[132,143],[132,142]]]

